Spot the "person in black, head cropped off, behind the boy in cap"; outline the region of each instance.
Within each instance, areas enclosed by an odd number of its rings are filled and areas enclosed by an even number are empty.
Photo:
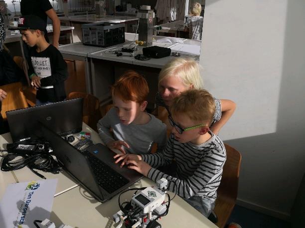
[[[21,0],[20,1],[20,12],[21,15],[36,15],[39,16],[44,21],[44,32],[46,41],[49,42],[47,38],[47,18],[52,20],[53,24],[53,41],[52,45],[58,49],[59,47],[59,35],[60,35],[60,20],[54,11],[49,0]]]

